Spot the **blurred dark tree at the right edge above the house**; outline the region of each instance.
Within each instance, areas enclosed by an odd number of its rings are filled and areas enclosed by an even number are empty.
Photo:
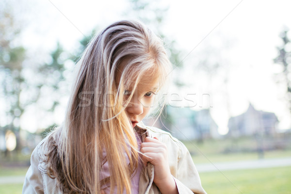
[[[276,74],[276,78],[279,84],[286,84],[286,100],[288,102],[289,110],[291,111],[291,43],[288,38],[288,32],[289,29],[285,28],[279,35],[283,44],[280,47],[277,47],[279,54],[274,59],[274,63],[283,67],[282,72]]]

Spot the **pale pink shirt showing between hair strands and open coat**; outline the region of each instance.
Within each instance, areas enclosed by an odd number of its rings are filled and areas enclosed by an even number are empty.
[[[141,144],[142,144],[141,136],[138,136],[137,133],[135,133],[135,137],[136,137],[136,141],[137,141],[138,150],[140,150]],[[104,150],[103,157],[105,155],[106,155],[106,151]],[[132,194],[138,194],[138,184],[139,184],[139,178],[140,178],[141,171],[142,171],[142,161],[139,158],[137,171],[136,171],[134,177],[131,178],[131,193]],[[102,170],[100,172],[100,178],[103,179],[103,178],[106,178],[109,176],[110,176],[110,172],[109,172],[108,162],[105,162],[104,165],[102,166]],[[105,188],[104,192],[106,194],[110,194],[110,188],[109,187]],[[117,194],[116,188],[114,190],[114,194]],[[124,191],[123,194],[126,194],[126,192]]]

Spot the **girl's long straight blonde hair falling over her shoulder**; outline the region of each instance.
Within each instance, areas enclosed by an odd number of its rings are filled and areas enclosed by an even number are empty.
[[[115,186],[131,194],[138,150],[125,112],[132,95],[124,101],[123,94],[149,72],[159,72],[162,87],[171,69],[162,40],[140,22],[118,21],[91,40],[77,67],[65,121],[48,137],[48,174],[64,193],[99,194],[110,184],[111,194]],[[100,180],[105,161],[110,177]]]

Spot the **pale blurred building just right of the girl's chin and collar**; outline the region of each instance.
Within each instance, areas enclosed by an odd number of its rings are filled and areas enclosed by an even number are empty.
[[[144,119],[146,125],[153,125],[153,119]],[[194,111],[189,107],[166,106],[166,111],[153,125],[169,131],[180,140],[218,138],[218,126],[212,119],[209,109]]]

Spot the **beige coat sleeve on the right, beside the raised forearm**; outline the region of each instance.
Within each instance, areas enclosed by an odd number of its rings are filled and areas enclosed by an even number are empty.
[[[175,179],[179,194],[206,194],[192,157],[186,146],[178,141],[180,152],[178,154],[177,178]]]

